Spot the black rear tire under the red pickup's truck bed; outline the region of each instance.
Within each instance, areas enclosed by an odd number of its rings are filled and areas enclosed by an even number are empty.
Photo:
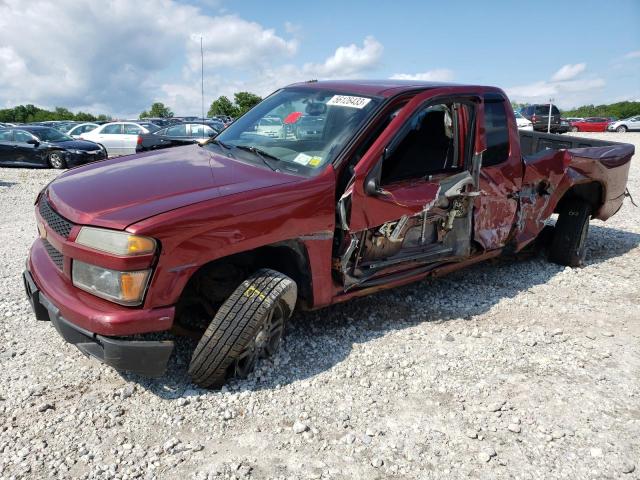
[[[591,206],[579,200],[566,202],[556,222],[549,260],[559,265],[580,267],[587,253]]]

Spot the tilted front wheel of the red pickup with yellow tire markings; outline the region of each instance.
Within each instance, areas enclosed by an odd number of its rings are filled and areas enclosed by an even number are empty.
[[[280,272],[261,269],[222,304],[198,342],[189,375],[204,388],[246,377],[259,358],[273,355],[293,313],[296,283]]]

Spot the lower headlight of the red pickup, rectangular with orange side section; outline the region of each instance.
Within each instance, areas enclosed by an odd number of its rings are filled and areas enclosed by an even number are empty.
[[[139,305],[147,288],[151,270],[119,272],[108,268],[73,261],[73,284],[97,297],[120,305]]]

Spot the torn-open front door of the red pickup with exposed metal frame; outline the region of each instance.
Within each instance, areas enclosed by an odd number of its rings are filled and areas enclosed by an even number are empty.
[[[434,175],[428,175],[421,188],[428,191],[429,185],[433,185],[431,192],[431,200],[426,204],[420,199],[418,202],[411,202],[411,195],[404,200],[412,203],[411,205],[398,202],[393,193],[383,189],[380,186],[380,176],[382,171],[382,163],[388,155],[389,146],[396,143],[398,137],[406,131],[414,115],[419,114],[423,109],[432,105],[443,103],[455,103],[469,105],[470,115],[466,119],[467,124],[464,126],[464,137],[459,135],[458,127],[455,130],[455,142],[457,150],[464,149],[464,158],[462,171],[437,178],[433,181]],[[402,279],[403,277],[412,276],[420,271],[428,271],[432,268],[449,263],[452,261],[464,260],[470,256],[470,243],[473,238],[473,208],[474,197],[479,195],[479,175],[482,162],[482,152],[485,149],[484,138],[484,121],[483,121],[483,98],[477,93],[456,92],[455,89],[437,89],[417,94],[413,99],[409,100],[403,107],[402,111],[390,122],[387,128],[380,134],[378,139],[373,143],[371,148],[363,155],[362,159],[355,167],[354,177],[340,197],[337,205],[338,228],[342,229],[345,235],[350,235],[348,245],[346,245],[338,258],[334,259],[334,268],[342,273],[342,283],[344,291],[354,288],[366,288],[374,286],[376,283]],[[456,118],[456,124],[459,118]],[[409,192],[410,193],[410,192]],[[422,194],[424,196],[424,193]],[[375,199],[375,200],[374,200]],[[362,204],[359,205],[362,200]],[[415,198],[413,200],[416,200]],[[395,204],[396,207],[388,212],[389,218],[367,215],[367,203],[379,203],[386,201],[385,206]],[[356,218],[354,222],[354,208]],[[371,208],[371,206],[370,206]],[[377,210],[377,209],[376,209]],[[430,251],[425,249],[424,252],[414,253],[404,258],[396,257],[391,260],[380,260],[372,262],[374,271],[371,275],[356,278],[349,274],[355,271],[359,266],[359,251],[364,245],[365,236],[371,229],[380,227],[384,228],[387,223],[391,225],[387,238],[392,240],[400,234],[404,224],[409,217],[419,215],[422,221],[422,232],[420,243],[424,244],[425,228],[428,222],[429,212],[435,214],[433,218],[438,218],[445,228],[450,229],[456,217],[465,218],[465,234],[468,236],[468,250],[464,255],[452,256],[451,248],[443,248],[434,245]],[[444,218],[442,215],[444,214]],[[395,218],[393,218],[394,215]],[[439,216],[438,216],[439,215]],[[382,220],[382,221],[380,221]],[[386,220],[386,221],[385,221]],[[353,227],[354,223],[356,228]],[[376,223],[374,225],[374,223]],[[433,223],[433,219],[431,222]],[[362,228],[359,228],[362,227]],[[351,261],[355,254],[355,259]],[[351,261],[351,264],[349,263]],[[425,264],[427,264],[425,266]],[[351,267],[351,268],[350,268]],[[399,268],[398,268],[399,267]]]

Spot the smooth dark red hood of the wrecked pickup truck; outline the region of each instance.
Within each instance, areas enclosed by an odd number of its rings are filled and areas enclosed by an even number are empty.
[[[299,180],[189,145],[74,168],[47,195],[71,222],[124,229],[193,203]]]

